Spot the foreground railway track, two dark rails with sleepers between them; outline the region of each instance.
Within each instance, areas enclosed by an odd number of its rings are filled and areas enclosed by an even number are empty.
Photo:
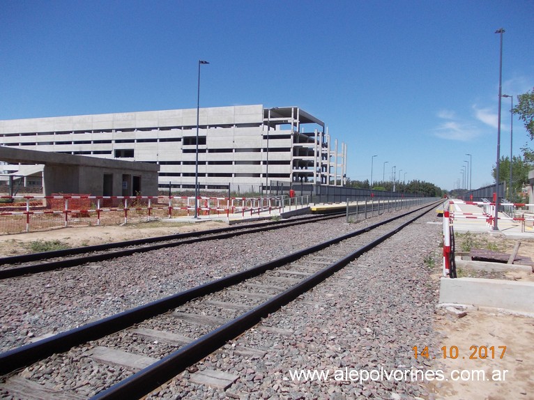
[[[282,259],[3,353],[0,374],[9,376],[0,393],[14,398],[24,394],[24,390],[36,393],[41,388],[27,378],[36,371],[53,370],[54,365],[70,370],[59,375],[72,376],[77,374],[73,371],[91,371],[101,364],[114,364],[108,369],[113,374],[110,372],[105,381],[84,382],[82,386],[63,383],[60,386],[66,390],[47,389],[47,398],[142,397],[433,207],[392,217]],[[241,351],[250,355],[255,349]],[[22,374],[13,374],[28,365]],[[43,380],[52,387],[58,384],[58,379],[47,376]],[[43,393],[38,396],[45,398]]]

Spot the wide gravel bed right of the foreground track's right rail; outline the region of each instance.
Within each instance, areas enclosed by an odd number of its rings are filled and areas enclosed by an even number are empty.
[[[432,330],[438,286],[429,257],[439,259],[441,225],[422,217],[364,254],[326,282],[264,320],[293,335],[253,329],[184,371],[151,399],[429,399],[422,382],[382,380],[360,383],[333,378],[338,370],[394,371],[434,365],[415,360],[413,346],[436,347]],[[264,357],[241,357],[236,346],[259,348]],[[196,369],[239,376],[228,390],[191,383]],[[289,371],[330,371],[330,379],[291,379]],[[430,397],[429,397],[430,396]]]

